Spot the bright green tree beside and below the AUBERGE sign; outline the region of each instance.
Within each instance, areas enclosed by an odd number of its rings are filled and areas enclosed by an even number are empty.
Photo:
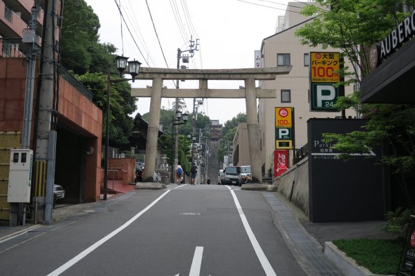
[[[343,83],[359,83],[360,77],[369,73],[368,49],[381,41],[408,13],[401,12],[403,4],[411,10],[415,1],[404,0],[315,0],[317,5],[306,6],[303,13],[314,16],[296,34],[304,44],[340,48],[353,68],[344,67],[342,75],[349,80]],[[361,75],[359,74],[361,73]],[[361,104],[359,91],[349,97],[340,97],[336,107],[353,107],[362,112],[368,122],[362,131],[347,135],[324,134],[324,141],[335,143],[333,148],[350,154],[367,153],[376,146],[385,145],[390,152],[382,157],[382,163],[391,168],[407,200],[412,206],[405,174],[414,172],[415,122],[414,107],[394,104]]]

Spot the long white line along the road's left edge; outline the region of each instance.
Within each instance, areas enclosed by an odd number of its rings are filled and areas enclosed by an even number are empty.
[[[180,187],[183,187],[183,186],[178,186],[176,188],[180,188]],[[174,189],[176,189],[176,188],[174,188]],[[172,189],[172,190],[174,190],[174,189]],[[151,207],[154,206],[154,204],[156,204],[160,199],[162,199],[169,192],[170,192],[170,190],[166,190],[165,193],[163,193],[163,195],[160,195],[160,197],[158,197],[156,200],[154,200],[153,202],[151,202],[151,204],[149,206],[147,206],[146,208],[144,208],[140,213],[138,213],[135,216],[133,216],[125,224],[122,224],[122,226],[120,226],[116,230],[113,230],[113,232],[109,233],[107,236],[103,237],[98,242],[95,242],[95,244],[89,246],[89,248],[86,248],[80,254],[76,255],[75,257],[73,257],[72,259],[70,259],[68,262],[66,262],[65,264],[63,264],[59,268],[55,269],[53,272],[49,273],[47,276],[57,276],[57,275],[60,275],[61,273],[64,273],[64,271],[66,271],[68,268],[70,268],[71,266],[73,266],[74,264],[76,264],[77,262],[80,262],[80,260],[83,259],[84,257],[86,257],[86,255],[88,255],[89,253],[91,253],[93,250],[95,250],[96,248],[98,248],[99,246],[101,246],[102,244],[104,244],[104,242],[107,242],[109,239],[111,239],[111,237],[114,237],[115,235],[117,235],[118,233],[120,233],[122,230],[124,230],[124,228],[127,228],[127,226],[129,226],[134,221],[136,221],[136,219],[138,219],[139,217],[141,217],[142,214],[146,213]]]

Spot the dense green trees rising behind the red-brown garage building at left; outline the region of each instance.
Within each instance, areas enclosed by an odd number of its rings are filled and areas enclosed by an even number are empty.
[[[102,132],[105,132],[107,112],[107,74],[115,65],[116,47],[100,43],[100,21],[84,0],[66,1],[62,23],[62,65],[93,93],[93,103],[103,112]],[[111,66],[111,80],[118,79],[118,71]],[[113,81],[110,86],[109,142],[111,146],[128,144],[133,127],[129,117],[136,110],[136,99],[130,95],[127,82]]]

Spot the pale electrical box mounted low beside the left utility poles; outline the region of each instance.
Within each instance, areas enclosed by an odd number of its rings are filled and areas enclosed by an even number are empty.
[[[10,170],[8,181],[8,202],[30,202],[32,186],[33,150],[10,150]]]

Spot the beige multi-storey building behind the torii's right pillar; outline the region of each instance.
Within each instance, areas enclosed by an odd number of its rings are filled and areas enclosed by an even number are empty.
[[[273,152],[275,141],[275,108],[294,108],[293,130],[295,149],[300,149],[307,143],[307,120],[309,118],[335,118],[341,112],[311,111],[310,109],[310,52],[340,52],[333,48],[313,48],[302,45],[295,31],[302,28],[312,18],[306,18],[293,7],[304,7],[310,3],[289,2],[284,17],[277,20],[276,33],[266,37],[261,43],[261,67],[270,68],[291,65],[293,68],[288,75],[278,75],[275,81],[261,81],[261,88],[276,89],[277,98],[259,99],[259,125],[261,128],[261,160],[262,172],[268,172],[273,167]],[[300,9],[297,8],[296,11]],[[281,26],[282,25],[282,26]],[[353,88],[345,88],[345,94],[353,92]],[[355,117],[353,110],[346,111],[347,117]],[[293,150],[290,159],[293,160]],[[292,163],[292,162],[291,162]]]

